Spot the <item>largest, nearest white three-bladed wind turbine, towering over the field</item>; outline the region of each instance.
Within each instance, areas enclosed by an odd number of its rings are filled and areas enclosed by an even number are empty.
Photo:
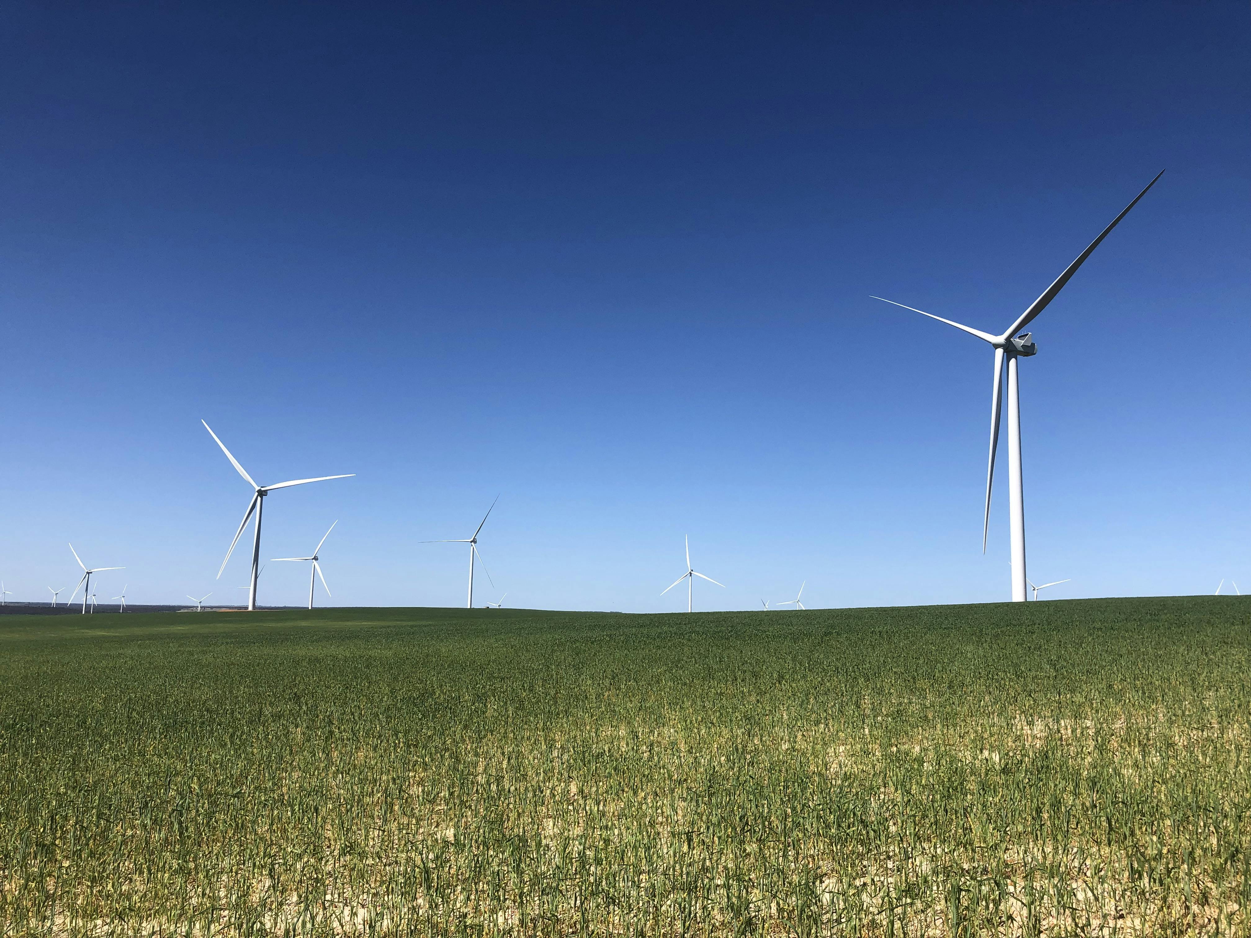
[[[1025,492],[1023,483],[1021,479],[1021,399],[1020,390],[1017,385],[1017,359],[1028,358],[1030,355],[1036,355],[1038,353],[1038,346],[1031,340],[1030,333],[1022,333],[1030,323],[1033,321],[1035,316],[1042,313],[1051,303],[1056,294],[1058,294],[1068,279],[1077,273],[1077,268],[1091,255],[1100,243],[1107,238],[1108,233],[1116,228],[1116,225],[1123,219],[1130,209],[1138,204],[1138,199],[1147,194],[1147,189],[1151,189],[1156,184],[1156,180],[1163,175],[1163,170],[1156,174],[1156,178],[1147,183],[1147,188],[1138,193],[1133,201],[1122,209],[1121,214],[1112,219],[1112,224],[1103,229],[1098,238],[1091,241],[1090,246],[1086,248],[1081,254],[1077,255],[1077,260],[1070,264],[1065,273],[1056,278],[1055,283],[1051,284],[1042,295],[1038,296],[1033,303],[1030,304],[1028,309],[1016,318],[1001,335],[991,335],[990,333],[983,333],[980,329],[972,329],[967,325],[961,325],[960,323],[953,323],[950,319],[943,319],[942,316],[936,316],[924,310],[919,310],[914,306],[904,306],[902,303],[894,303],[894,300],[887,300],[882,296],[873,296],[874,300],[882,300],[883,303],[891,303],[896,306],[903,306],[903,309],[911,309],[913,313],[919,313],[923,316],[929,316],[931,319],[937,319],[940,323],[946,323],[947,325],[955,326],[961,331],[966,331],[970,335],[976,335],[985,343],[988,343],[991,348],[995,349],[995,385],[991,393],[991,453],[990,460],[986,469],[986,515],[982,522],[982,553],[986,553],[986,535],[990,530],[991,524],[991,484],[995,480],[995,450],[1000,441],[1000,411],[1001,411],[1001,390],[1003,386],[1003,361],[1007,359],[1007,385],[1008,385],[1008,518],[1011,529],[1011,542],[1012,542],[1012,602],[1023,603],[1026,600],[1026,569],[1025,569]]]

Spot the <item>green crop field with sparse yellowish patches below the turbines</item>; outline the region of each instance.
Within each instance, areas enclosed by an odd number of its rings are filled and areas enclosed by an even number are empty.
[[[1247,934],[1251,599],[0,619],[0,933]]]

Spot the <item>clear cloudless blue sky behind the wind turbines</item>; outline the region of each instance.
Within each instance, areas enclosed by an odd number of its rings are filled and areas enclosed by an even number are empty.
[[[215,580],[249,490],[333,604],[1008,597],[998,331],[1033,323],[1056,598],[1251,587],[1245,4],[0,10],[0,577]],[[263,603],[306,570],[270,565]]]

